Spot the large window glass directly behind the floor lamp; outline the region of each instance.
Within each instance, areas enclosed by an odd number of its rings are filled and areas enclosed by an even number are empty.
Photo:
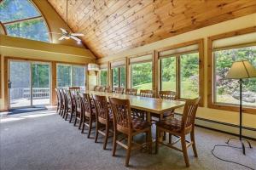
[[[239,83],[237,80],[225,79],[234,61],[248,59],[256,67],[256,46],[234,48],[214,52],[215,63],[215,102],[238,105]],[[256,78],[243,79],[243,105],[256,107]]]

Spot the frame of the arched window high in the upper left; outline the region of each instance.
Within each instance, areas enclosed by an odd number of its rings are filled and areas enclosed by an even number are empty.
[[[0,0],[0,4],[3,3],[3,1],[4,0],[2,0],[2,1]],[[32,2],[32,0],[27,0],[27,1],[29,3],[31,3],[31,5],[35,8],[35,10],[38,11],[39,15],[34,16],[34,17],[29,17],[29,18],[26,18],[26,19],[21,19],[21,20],[12,20],[12,21],[8,21],[8,22],[1,22],[0,21],[5,35],[9,36],[8,30],[6,28],[6,26],[8,26],[8,25],[13,25],[13,24],[16,24],[16,23],[25,22],[25,21],[29,21],[29,20],[40,20],[40,19],[42,19],[44,21],[44,24],[45,24],[45,27],[46,27],[47,31],[50,32],[48,22],[45,20],[44,14],[42,14],[42,11],[38,8],[38,6],[34,2]],[[33,39],[30,39],[30,38],[26,38],[26,37],[20,37],[20,38],[29,39],[29,40],[32,40],[32,41],[44,42],[42,40],[33,40]],[[47,41],[47,42],[52,42],[52,37],[51,37],[51,34],[49,34],[49,33],[48,33],[48,39],[49,39],[49,41]]]

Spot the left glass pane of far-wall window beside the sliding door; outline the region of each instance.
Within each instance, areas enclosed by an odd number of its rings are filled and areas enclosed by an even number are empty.
[[[71,86],[71,66],[57,65],[57,86],[58,88]]]

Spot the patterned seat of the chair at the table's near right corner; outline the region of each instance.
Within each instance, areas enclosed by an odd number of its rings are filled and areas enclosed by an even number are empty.
[[[182,129],[182,121],[174,117],[168,117],[155,123],[157,127],[165,128],[173,132],[180,132]]]

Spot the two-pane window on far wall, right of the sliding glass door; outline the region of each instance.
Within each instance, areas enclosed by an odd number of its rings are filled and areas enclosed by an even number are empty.
[[[80,87],[85,90],[84,66],[57,65],[57,87]]]

